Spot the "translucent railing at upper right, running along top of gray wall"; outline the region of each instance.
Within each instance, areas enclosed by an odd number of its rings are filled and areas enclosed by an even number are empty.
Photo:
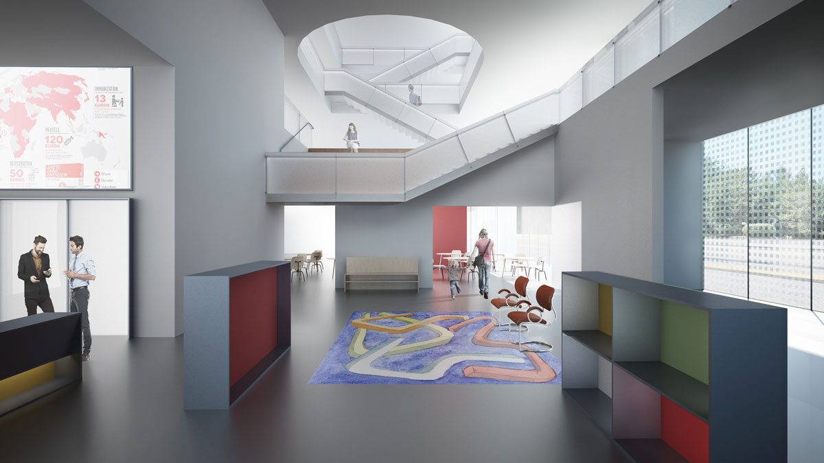
[[[560,88],[564,120],[736,0],[659,0],[621,30]]]

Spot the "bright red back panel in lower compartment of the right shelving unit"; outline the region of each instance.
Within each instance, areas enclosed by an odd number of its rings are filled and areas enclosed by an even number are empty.
[[[692,463],[709,462],[709,424],[663,395],[661,439]]]

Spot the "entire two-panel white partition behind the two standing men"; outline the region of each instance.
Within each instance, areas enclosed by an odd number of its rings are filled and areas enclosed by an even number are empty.
[[[48,240],[45,253],[52,268],[48,281],[54,310],[68,311],[63,270],[71,258],[68,238],[79,235],[97,269],[89,288],[92,336],[129,335],[129,230],[129,199],[0,200],[0,320],[26,316],[17,263],[37,235]]]

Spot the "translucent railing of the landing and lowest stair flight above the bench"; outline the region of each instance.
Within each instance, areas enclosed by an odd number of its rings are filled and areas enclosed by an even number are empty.
[[[267,153],[273,201],[400,202],[555,133],[558,92],[406,153]]]

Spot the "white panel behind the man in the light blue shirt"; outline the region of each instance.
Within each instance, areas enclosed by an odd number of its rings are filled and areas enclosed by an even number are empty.
[[[129,201],[68,201],[68,233],[82,236],[83,250],[97,269],[97,278],[89,285],[91,334],[128,335]]]

